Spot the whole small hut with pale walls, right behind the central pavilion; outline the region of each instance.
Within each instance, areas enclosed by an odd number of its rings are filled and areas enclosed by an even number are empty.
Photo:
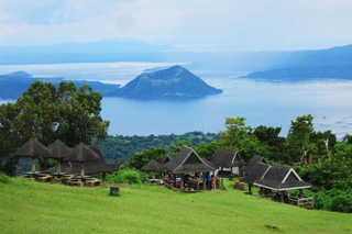
[[[223,149],[217,149],[213,153],[211,163],[218,167],[216,175],[240,175],[240,167],[246,165],[238,152]]]

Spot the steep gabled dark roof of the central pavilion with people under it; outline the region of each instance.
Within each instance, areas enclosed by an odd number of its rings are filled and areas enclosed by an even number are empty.
[[[164,165],[174,174],[213,171],[216,168],[209,166],[191,148],[183,146],[177,156],[172,161]]]

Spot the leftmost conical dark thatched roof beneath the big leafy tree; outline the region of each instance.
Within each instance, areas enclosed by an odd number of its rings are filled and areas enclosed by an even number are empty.
[[[14,153],[16,157],[51,157],[51,152],[42,143],[31,137],[19,151]]]

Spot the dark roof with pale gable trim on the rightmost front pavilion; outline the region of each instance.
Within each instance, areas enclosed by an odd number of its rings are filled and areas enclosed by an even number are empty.
[[[253,185],[277,191],[311,187],[310,183],[302,181],[293,168],[277,164],[273,165],[264,177]]]

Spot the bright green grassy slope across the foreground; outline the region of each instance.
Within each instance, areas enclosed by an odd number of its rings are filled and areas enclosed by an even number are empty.
[[[351,233],[351,214],[305,210],[227,191],[163,187],[72,188],[24,179],[0,183],[1,233]],[[277,230],[267,226],[274,225]]]

